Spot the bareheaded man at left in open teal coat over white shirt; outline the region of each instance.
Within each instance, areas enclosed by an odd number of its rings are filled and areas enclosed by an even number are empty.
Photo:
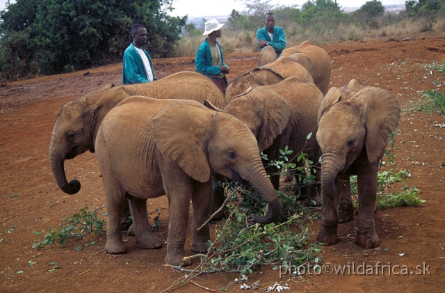
[[[133,42],[125,49],[122,84],[141,84],[156,80],[152,58],[142,46],[147,43],[147,30],[140,24],[131,26]]]

